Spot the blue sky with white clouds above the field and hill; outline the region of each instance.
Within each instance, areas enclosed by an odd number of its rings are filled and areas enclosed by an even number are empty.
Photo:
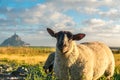
[[[120,47],[120,0],[0,0],[0,43],[17,33],[31,46],[55,46],[46,28]]]

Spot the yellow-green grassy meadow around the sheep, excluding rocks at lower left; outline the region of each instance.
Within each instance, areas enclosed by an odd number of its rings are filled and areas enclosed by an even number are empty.
[[[48,76],[42,66],[54,47],[0,47],[0,65],[9,65],[12,69],[6,71],[11,73],[19,66],[28,69],[25,80],[56,80]],[[115,73],[112,80],[120,80],[120,51],[113,51],[115,57]],[[103,75],[99,80],[106,80]]]

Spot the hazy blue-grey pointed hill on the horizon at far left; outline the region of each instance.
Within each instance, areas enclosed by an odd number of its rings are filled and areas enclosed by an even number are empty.
[[[8,39],[4,40],[0,46],[29,46],[30,44],[21,40],[21,38],[15,33]]]

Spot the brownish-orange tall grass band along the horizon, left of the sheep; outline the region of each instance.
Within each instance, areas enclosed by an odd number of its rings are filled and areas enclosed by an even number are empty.
[[[54,50],[52,47],[0,47],[0,54],[40,55]]]

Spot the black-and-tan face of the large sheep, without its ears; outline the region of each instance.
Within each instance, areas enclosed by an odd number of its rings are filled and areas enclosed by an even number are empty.
[[[72,41],[72,33],[67,31],[60,31],[56,33],[57,38],[57,48],[62,52],[66,53],[70,47],[70,42]]]

